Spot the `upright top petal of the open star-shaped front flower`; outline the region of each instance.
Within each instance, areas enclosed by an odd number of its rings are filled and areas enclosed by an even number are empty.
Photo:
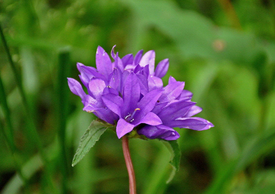
[[[134,72],[131,72],[126,80],[123,90],[123,111],[122,115],[125,116],[128,112],[137,108],[137,104],[140,97],[140,86],[138,83],[138,77]]]

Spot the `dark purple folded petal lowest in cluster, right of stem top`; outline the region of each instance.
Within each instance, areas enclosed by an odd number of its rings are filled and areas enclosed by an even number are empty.
[[[137,132],[141,135],[145,135],[149,139],[161,138],[164,140],[177,140],[180,137],[177,131],[165,125],[145,125]]]

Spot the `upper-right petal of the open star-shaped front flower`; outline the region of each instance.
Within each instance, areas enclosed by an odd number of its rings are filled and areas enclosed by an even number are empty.
[[[137,120],[140,120],[147,113],[149,113],[155,106],[158,98],[162,94],[162,89],[156,89],[147,93],[139,102],[137,107],[140,108],[139,113],[136,116]]]

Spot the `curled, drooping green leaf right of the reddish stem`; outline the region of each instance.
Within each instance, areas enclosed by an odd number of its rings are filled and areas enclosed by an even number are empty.
[[[180,152],[180,148],[178,146],[177,140],[172,140],[172,141],[160,140],[160,141],[162,141],[162,143],[168,148],[169,152],[171,153],[171,160],[169,163],[172,165],[173,170],[170,174],[169,179],[166,181],[166,183],[168,184],[170,181],[172,181],[176,172],[180,168],[181,152]]]

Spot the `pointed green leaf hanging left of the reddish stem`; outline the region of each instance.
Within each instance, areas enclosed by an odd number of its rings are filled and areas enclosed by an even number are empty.
[[[80,139],[80,143],[73,157],[72,166],[76,165],[86,155],[95,142],[99,140],[100,136],[106,131],[106,129],[112,127],[110,124],[105,124],[102,121],[94,120],[87,131]]]

